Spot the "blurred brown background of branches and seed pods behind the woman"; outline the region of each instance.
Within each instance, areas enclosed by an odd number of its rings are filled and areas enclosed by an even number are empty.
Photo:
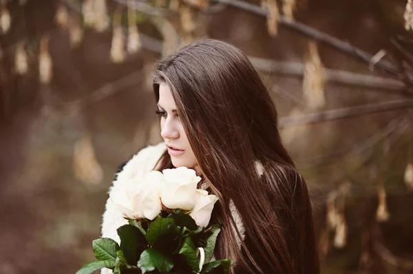
[[[154,62],[207,37],[273,96],[322,273],[413,273],[411,0],[0,3],[0,273],[94,260],[116,168],[161,141]]]

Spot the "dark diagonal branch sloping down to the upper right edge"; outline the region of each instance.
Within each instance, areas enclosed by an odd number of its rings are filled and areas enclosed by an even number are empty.
[[[261,16],[267,16],[267,12],[262,10],[259,5],[253,5],[251,3],[247,3],[245,1],[237,1],[237,0],[211,0],[218,3],[226,3],[227,5],[232,5],[235,8],[240,8],[242,10],[246,10],[248,12],[253,12],[255,14]],[[372,54],[368,52],[364,52],[363,50],[352,46],[348,42],[341,41],[329,34],[324,32],[320,32],[319,30],[315,30],[313,27],[309,27],[308,25],[304,25],[303,23],[289,21],[284,16],[280,15],[278,22],[280,25],[284,25],[288,27],[290,30],[294,30],[295,32],[299,32],[300,34],[304,34],[309,38],[315,39],[321,43],[324,43],[328,47],[332,47],[334,49],[339,49],[341,52],[345,52],[354,58],[359,60],[363,60],[364,62],[370,63],[371,58],[373,57]],[[379,67],[383,71],[386,71],[394,76],[400,76],[399,71],[387,60],[381,60],[374,64],[375,67]],[[413,83],[413,76],[408,76],[408,82]]]

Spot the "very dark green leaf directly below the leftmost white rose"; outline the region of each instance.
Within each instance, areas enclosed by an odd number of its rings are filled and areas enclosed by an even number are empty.
[[[118,228],[120,238],[120,249],[127,262],[131,265],[136,265],[140,253],[147,248],[147,240],[145,235],[133,225],[124,225]]]

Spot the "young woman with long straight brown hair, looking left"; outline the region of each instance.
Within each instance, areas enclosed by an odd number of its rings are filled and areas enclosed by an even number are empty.
[[[153,89],[165,142],[141,150],[114,185],[153,169],[193,168],[219,198],[211,221],[224,227],[215,258],[233,260],[231,273],[319,273],[306,183],[246,56],[227,43],[198,41],[156,65]],[[125,223],[108,199],[103,237],[119,241]]]

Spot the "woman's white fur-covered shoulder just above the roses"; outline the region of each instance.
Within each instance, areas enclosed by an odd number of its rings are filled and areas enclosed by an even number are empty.
[[[114,177],[114,185],[117,182],[127,181],[153,170],[165,150],[164,142],[139,150],[131,159],[118,166]]]

